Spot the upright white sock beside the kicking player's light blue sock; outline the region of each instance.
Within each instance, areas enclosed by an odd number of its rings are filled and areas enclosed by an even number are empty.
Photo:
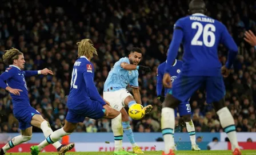
[[[123,127],[121,113],[111,120],[111,126],[115,137],[115,151],[122,150],[123,148]]]

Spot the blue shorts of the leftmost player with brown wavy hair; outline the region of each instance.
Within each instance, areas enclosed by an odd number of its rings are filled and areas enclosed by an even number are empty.
[[[18,103],[15,103],[18,104]],[[41,115],[35,108],[31,106],[24,106],[24,107],[14,107],[13,108],[13,115],[19,121],[19,129],[25,130],[29,127],[32,127],[31,120],[32,117],[35,115]]]

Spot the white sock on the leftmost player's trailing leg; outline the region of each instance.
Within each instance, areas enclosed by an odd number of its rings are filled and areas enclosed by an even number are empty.
[[[7,152],[7,150],[13,148],[16,145],[21,144],[22,142],[31,140],[31,137],[32,136],[22,136],[22,135],[14,137],[5,146],[3,146],[3,148],[2,148],[3,152]]]

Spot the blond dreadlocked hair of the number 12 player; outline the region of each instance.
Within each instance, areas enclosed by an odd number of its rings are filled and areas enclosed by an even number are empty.
[[[93,46],[93,42],[90,39],[83,39],[77,43],[78,57],[86,56],[86,58],[93,58],[93,54],[97,54],[96,48]]]

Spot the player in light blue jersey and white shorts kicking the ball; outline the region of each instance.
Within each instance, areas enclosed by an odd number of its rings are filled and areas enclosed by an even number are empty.
[[[133,146],[133,153],[143,154],[141,148],[135,143],[133,130],[131,130],[129,115],[125,110],[125,105],[130,108],[131,105],[141,103],[141,94],[139,93],[138,70],[151,72],[149,67],[138,66],[141,61],[142,52],[140,48],[133,48],[130,51],[129,58],[121,58],[114,64],[107,76],[104,84],[103,98],[109,101],[110,106],[122,114],[122,125],[126,136]],[[133,95],[126,90],[127,85],[133,88]],[[145,113],[150,113],[152,105],[144,107]]]

